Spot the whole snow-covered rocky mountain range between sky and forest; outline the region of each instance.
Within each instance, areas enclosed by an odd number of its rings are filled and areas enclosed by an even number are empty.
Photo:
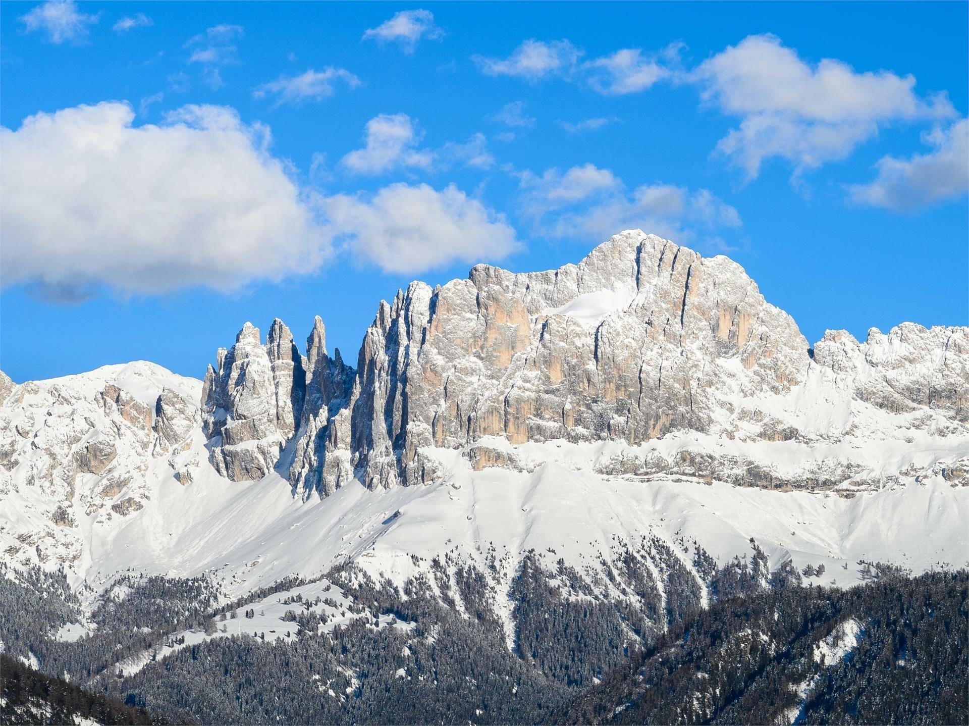
[[[0,378],[0,548],[95,589],[124,568],[230,595],[355,560],[607,567],[617,543],[755,538],[772,566],[969,561],[969,329],[810,347],[742,268],[624,232],[578,265],[412,283],[356,370],[251,324],[204,382],[152,363]],[[684,564],[693,567],[684,555]]]

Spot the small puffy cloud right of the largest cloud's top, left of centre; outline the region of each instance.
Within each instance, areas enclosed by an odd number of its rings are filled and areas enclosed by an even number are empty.
[[[363,148],[348,153],[342,163],[356,174],[384,174],[400,167],[429,169],[434,155],[417,148],[421,138],[406,113],[382,113],[366,122]]]

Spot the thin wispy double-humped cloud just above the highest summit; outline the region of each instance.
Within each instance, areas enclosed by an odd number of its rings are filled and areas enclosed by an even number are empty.
[[[706,189],[643,184],[630,191],[592,164],[541,176],[526,172],[519,187],[523,213],[547,237],[605,238],[640,228],[719,252],[730,249],[720,235],[741,226],[737,210]]]

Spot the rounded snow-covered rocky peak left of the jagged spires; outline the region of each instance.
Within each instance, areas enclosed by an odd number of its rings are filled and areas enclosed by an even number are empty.
[[[141,361],[8,391],[0,510],[29,502],[17,526],[31,532],[32,556],[76,562],[83,532],[141,509],[167,468],[155,459],[201,439],[200,390],[200,381]]]

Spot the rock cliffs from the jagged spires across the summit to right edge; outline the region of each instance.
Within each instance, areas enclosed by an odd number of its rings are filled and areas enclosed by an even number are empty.
[[[220,473],[259,479],[275,466],[302,495],[326,495],[354,477],[370,488],[434,481],[439,458],[422,454],[429,447],[463,449],[477,467],[512,466],[515,455],[488,437],[636,446],[697,432],[814,446],[861,429],[877,436],[877,426],[928,426],[860,415],[862,404],[933,412],[962,430],[969,329],[903,324],[870,331],[863,344],[828,331],[812,349],[733,261],[628,231],[578,265],[479,265],[437,288],[412,283],[378,306],[356,371],[338,352],[329,358],[320,318],[305,359],[281,322],[266,346],[246,324],[204,391]],[[836,415],[810,403],[835,399]],[[726,476],[717,455],[681,454],[605,468]],[[736,457],[728,479],[828,487],[865,468],[812,466],[780,477]]]

